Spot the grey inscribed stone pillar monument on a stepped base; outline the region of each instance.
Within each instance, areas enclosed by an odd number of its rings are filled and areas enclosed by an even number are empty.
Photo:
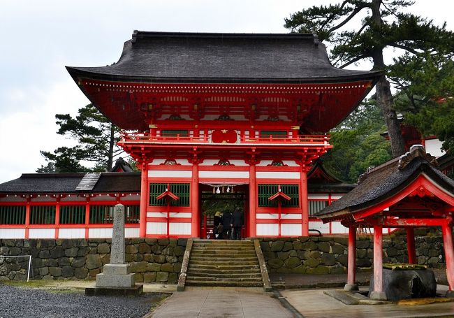
[[[134,273],[129,273],[129,264],[125,261],[124,245],[124,205],[114,208],[112,245],[110,263],[105,264],[103,273],[96,275],[96,286],[85,289],[91,295],[138,295],[142,294],[143,285],[136,285]]]

